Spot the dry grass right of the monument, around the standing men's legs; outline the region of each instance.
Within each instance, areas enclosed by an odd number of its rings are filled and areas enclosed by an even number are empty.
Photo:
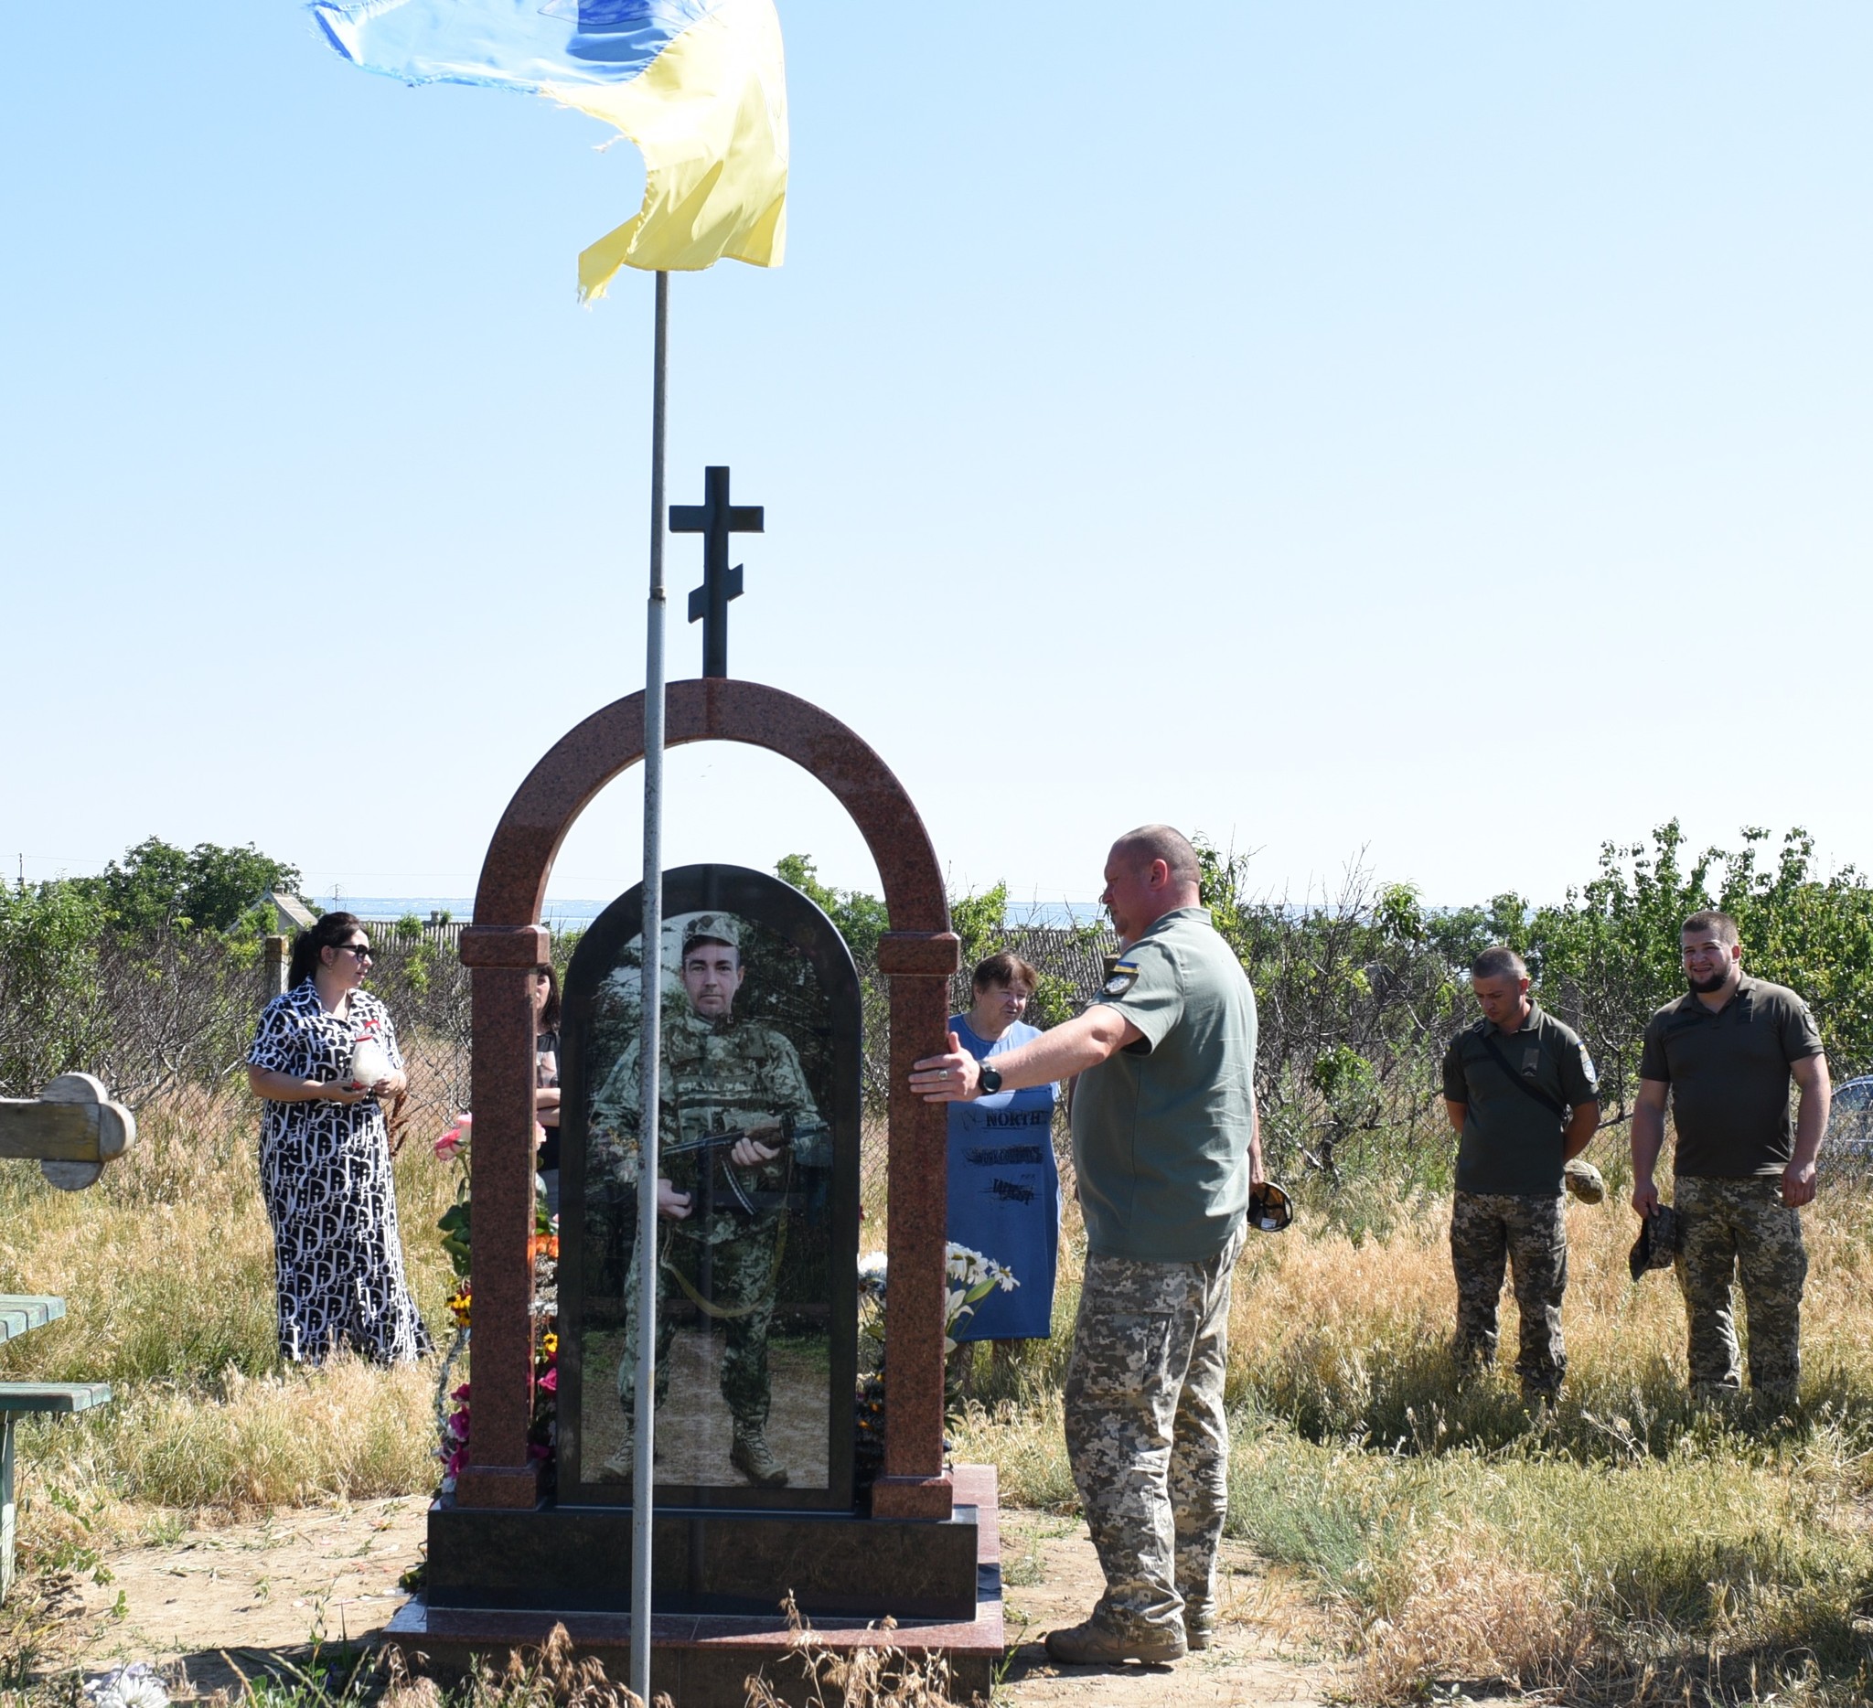
[[[1358,1701],[1513,1682],[1556,1701],[1864,1702],[1873,1684],[1873,1202],[1807,1221],[1804,1414],[1699,1412],[1669,1275],[1633,1219],[1570,1210],[1568,1390],[1459,1386],[1448,1200],[1352,1184],[1236,1274],[1229,1530],[1328,1603]],[[1064,1277],[1077,1262],[1062,1260]],[[1056,1339],[957,1420],[1004,1498],[1071,1509]],[[1504,1363],[1513,1362],[1504,1298]]]

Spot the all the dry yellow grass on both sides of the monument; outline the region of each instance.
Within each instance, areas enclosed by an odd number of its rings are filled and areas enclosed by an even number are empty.
[[[140,1148],[88,1193],[0,1171],[0,1290],[69,1307],[4,1348],[0,1369],[118,1386],[99,1414],[24,1429],[28,1566],[435,1476],[427,1369],[279,1371],[255,1127],[230,1094],[146,1118]],[[418,1298],[440,1324],[450,1275],[431,1229],[453,1180],[423,1137],[397,1187]],[[1444,1199],[1375,1182],[1305,1199],[1236,1277],[1229,1528],[1332,1609],[1360,1701],[1452,1680],[1551,1701],[1867,1701],[1869,1212],[1866,1191],[1834,1189],[1809,1217],[1806,1405],[1772,1420],[1688,1405],[1671,1279],[1628,1279],[1633,1227],[1616,1195],[1575,1206],[1568,1390],[1530,1418],[1506,1375],[1455,1382]],[[1069,1511],[1071,1212],[1066,1234],[1054,1339],[1008,1369],[983,1360],[981,1403],[951,1440],[959,1459],[1000,1466],[1006,1498]],[[1512,1300],[1502,1339],[1513,1347]]]

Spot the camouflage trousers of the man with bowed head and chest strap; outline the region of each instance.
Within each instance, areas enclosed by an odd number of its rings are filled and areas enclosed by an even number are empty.
[[[1521,1350],[1515,1375],[1530,1395],[1555,1393],[1568,1373],[1560,1296],[1568,1290],[1568,1199],[1457,1193],[1450,1264],[1457,1272],[1457,1363],[1495,1363],[1502,1270],[1515,1277]]]

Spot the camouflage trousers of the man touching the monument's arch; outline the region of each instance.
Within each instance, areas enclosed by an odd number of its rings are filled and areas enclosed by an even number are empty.
[[[1182,1631],[1216,1598],[1229,1508],[1229,1277],[1210,1262],[1086,1255],[1066,1369],[1066,1450],[1105,1571],[1094,1622],[1124,1637]]]

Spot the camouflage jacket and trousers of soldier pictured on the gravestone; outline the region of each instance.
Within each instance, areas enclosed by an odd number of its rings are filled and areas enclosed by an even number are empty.
[[[637,1189],[639,1060],[633,1039],[592,1099],[590,1178],[607,1174]],[[714,1023],[678,1013],[663,1028],[659,1144],[736,1133],[792,1116],[792,1148],[768,1163],[738,1169],[727,1150],[669,1157],[661,1174],[691,1195],[689,1215],[663,1219],[657,1264],[657,1303],[701,1296],[704,1315],[725,1333],[721,1397],[736,1429],[760,1429],[768,1420],[768,1328],[774,1322],[774,1283],[787,1199],[796,1167],[826,1167],[832,1133],[820,1122],[792,1043],[753,1021]],[[775,1135],[777,1137],[777,1135]],[[755,1214],[734,1195],[730,1172]],[[684,1285],[687,1283],[687,1287]],[[631,1412],[637,1391],[637,1264],[626,1279],[626,1348],[618,1363],[618,1399]],[[676,1322],[657,1311],[657,1401],[669,1391],[667,1360]]]

